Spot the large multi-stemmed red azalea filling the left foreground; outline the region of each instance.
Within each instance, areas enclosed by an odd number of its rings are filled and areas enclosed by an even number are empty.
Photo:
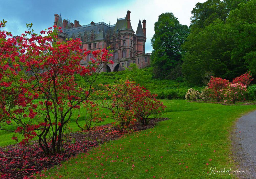
[[[34,34],[32,24],[27,26],[28,31],[15,38],[0,31],[0,129],[21,134],[21,145],[38,137],[44,153],[55,154],[61,152],[62,135],[74,110],[94,92],[101,68],[113,62],[104,49],[92,52],[96,60],[81,66],[90,51],[80,49],[80,40],[60,43],[61,29]],[[89,85],[78,86],[74,74]]]

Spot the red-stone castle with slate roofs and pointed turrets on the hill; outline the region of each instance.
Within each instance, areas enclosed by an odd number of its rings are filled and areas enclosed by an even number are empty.
[[[105,22],[80,25],[79,21],[74,23],[62,20],[61,15],[55,14],[54,25],[62,27],[62,33],[58,34],[58,40],[63,42],[66,38],[80,38],[82,41],[81,49],[100,50],[110,46],[113,50],[112,59],[114,64],[103,67],[103,72],[117,72],[125,70],[131,63],[136,63],[138,68],[150,65],[151,53],[145,53],[146,42],[146,20],[139,20],[136,33],[133,31],[130,20],[131,11],[127,11],[126,17],[117,19],[116,24],[109,25]],[[89,54],[81,65],[88,65],[90,59],[94,57]]]

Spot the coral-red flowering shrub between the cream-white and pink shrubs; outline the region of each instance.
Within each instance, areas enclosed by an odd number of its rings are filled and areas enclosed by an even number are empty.
[[[217,98],[217,101],[220,102],[222,91],[227,87],[229,81],[226,79],[211,77],[208,87],[213,91],[212,97]]]

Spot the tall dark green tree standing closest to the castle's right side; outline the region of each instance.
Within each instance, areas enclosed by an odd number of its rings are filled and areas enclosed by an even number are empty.
[[[177,76],[172,75],[172,70],[181,75],[179,67],[176,66],[181,63],[181,45],[189,34],[188,26],[181,25],[173,13],[166,12],[158,17],[154,31],[151,39],[153,77],[176,79]]]

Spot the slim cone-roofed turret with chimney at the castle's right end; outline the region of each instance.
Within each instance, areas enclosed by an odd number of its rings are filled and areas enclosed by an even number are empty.
[[[146,27],[146,20],[145,20],[145,27]],[[136,30],[136,34],[135,34],[137,36],[137,53],[145,53],[146,28],[145,28],[145,34],[143,31],[144,29],[142,29],[141,19],[140,19],[137,30]]]

